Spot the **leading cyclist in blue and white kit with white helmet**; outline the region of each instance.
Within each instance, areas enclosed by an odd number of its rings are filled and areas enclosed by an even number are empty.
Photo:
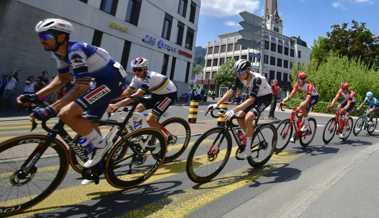
[[[57,62],[58,74],[36,94],[20,95],[18,103],[37,101],[60,90],[75,79],[73,88],[61,99],[47,107],[37,107],[31,116],[46,121],[59,118],[94,146],[93,153],[84,167],[96,165],[103,157],[107,140],[94,123],[82,116],[101,117],[109,102],[122,93],[126,73],[109,53],[85,42],[70,40],[73,25],[62,19],[48,18],[35,26],[44,50],[51,52]]]

